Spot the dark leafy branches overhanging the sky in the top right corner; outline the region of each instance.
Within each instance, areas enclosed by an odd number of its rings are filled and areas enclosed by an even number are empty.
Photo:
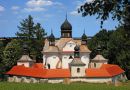
[[[91,3],[86,2],[78,11],[83,16],[97,15],[97,19],[101,19],[101,24],[104,20],[111,17],[112,19],[121,21],[130,13],[129,0],[94,0]]]

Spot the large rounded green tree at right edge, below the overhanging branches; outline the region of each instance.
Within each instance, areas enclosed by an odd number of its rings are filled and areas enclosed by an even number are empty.
[[[130,48],[126,48],[125,31],[122,27],[117,28],[117,30],[111,34],[110,41],[108,42],[109,63],[118,64],[126,69],[130,66],[129,49]]]

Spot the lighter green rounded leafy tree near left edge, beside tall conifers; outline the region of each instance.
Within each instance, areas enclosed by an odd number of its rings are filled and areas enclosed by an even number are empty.
[[[14,39],[8,43],[3,51],[3,72],[12,68],[12,66],[17,63],[17,60],[20,58],[21,54],[22,48],[18,40]]]

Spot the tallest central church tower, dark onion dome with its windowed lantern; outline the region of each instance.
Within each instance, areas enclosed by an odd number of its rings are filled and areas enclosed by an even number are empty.
[[[61,25],[61,38],[72,38],[72,26],[67,20],[67,15],[65,21]]]

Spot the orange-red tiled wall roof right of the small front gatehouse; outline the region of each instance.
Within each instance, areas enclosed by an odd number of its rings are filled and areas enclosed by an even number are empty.
[[[86,76],[87,77],[112,77],[115,75],[119,75],[123,73],[122,70],[118,65],[111,65],[111,64],[103,64],[99,69],[86,69]]]

